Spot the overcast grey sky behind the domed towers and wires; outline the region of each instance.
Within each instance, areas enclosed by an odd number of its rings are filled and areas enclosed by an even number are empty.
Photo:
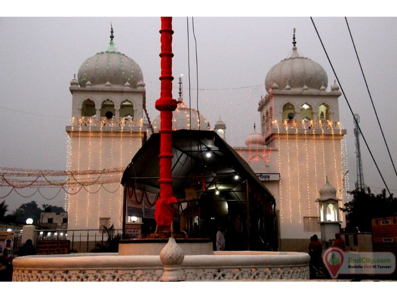
[[[376,122],[346,22],[343,17],[314,17],[314,21],[346,97],[354,113],[360,114],[361,129],[388,187],[396,194],[396,174]],[[160,18],[1,17],[1,167],[65,169],[65,127],[71,116],[69,82],[86,58],[105,48],[109,41],[110,22],[115,31],[116,46],[142,70],[150,118],[158,115],[154,101],[158,96],[160,75]],[[348,22],[392,157],[397,163],[397,18],[348,17]],[[189,26],[191,30],[192,18],[189,18]],[[310,17],[194,17],[194,28],[199,88],[208,90],[200,92],[200,111],[213,127],[222,110],[219,96],[216,96],[218,102],[214,102],[214,91],[209,89],[222,88],[226,102],[222,115],[228,127],[228,141],[231,142],[233,134],[234,146],[244,143],[246,136],[253,131],[254,121],[259,122],[257,107],[263,92],[261,85],[269,69],[288,57],[293,28],[296,28],[299,53],[326,70],[327,90],[335,79]],[[187,90],[186,17],[174,18],[173,29],[173,74],[176,78],[180,73],[184,74],[184,88]],[[191,86],[196,88],[195,44],[193,32],[190,34]],[[177,80],[174,82],[176,84]],[[258,87],[243,88],[247,86]],[[174,98],[177,98],[177,93],[174,93]],[[185,101],[188,101],[186,96]],[[239,103],[240,107],[234,106],[231,112],[230,101],[235,105]],[[193,91],[192,105],[196,108],[196,93]],[[209,115],[206,115],[207,111],[210,111]],[[230,123],[230,114],[233,123]],[[339,114],[341,124],[347,129],[349,182],[350,189],[353,189],[356,181],[354,124],[343,95],[339,97]],[[373,192],[378,192],[384,184],[364,142],[360,141],[365,183]],[[8,191],[0,189],[0,197]],[[32,190],[21,192],[28,195]],[[50,189],[43,193],[50,197],[56,191]],[[39,205],[63,206],[64,197],[61,192],[53,201],[46,201],[40,196],[24,199],[12,193],[5,201],[9,209],[14,210],[33,199]]]

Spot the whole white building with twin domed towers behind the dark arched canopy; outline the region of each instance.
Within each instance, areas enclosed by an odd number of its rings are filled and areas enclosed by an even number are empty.
[[[131,58],[117,50],[112,33],[107,48],[83,62],[69,89],[72,123],[66,132],[69,168],[76,175],[69,184],[68,228],[111,224],[121,228],[121,174],[150,134],[150,125],[143,120],[144,114],[148,119],[143,75]],[[307,251],[310,236],[321,232],[316,199],[327,179],[342,199],[339,207],[344,202],[346,131],[339,123],[341,93],[335,83],[328,88],[321,65],[299,55],[295,36],[292,54],[269,70],[265,89],[259,100],[258,131],[254,128],[247,137],[246,147],[234,149],[275,198],[278,248]],[[189,110],[181,94],[180,83],[173,127],[211,129],[205,116]],[[158,124],[155,119],[155,130]],[[226,127],[219,119],[214,130],[227,141]],[[115,175],[118,171],[120,176]]]

